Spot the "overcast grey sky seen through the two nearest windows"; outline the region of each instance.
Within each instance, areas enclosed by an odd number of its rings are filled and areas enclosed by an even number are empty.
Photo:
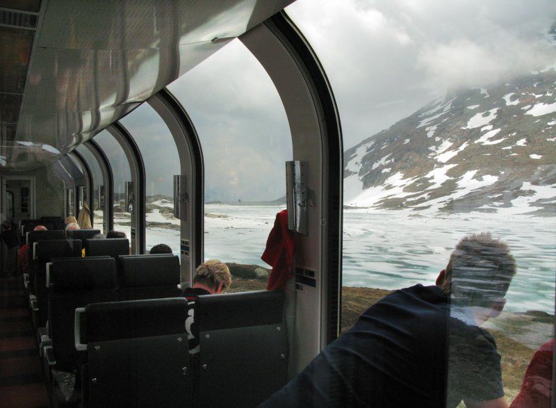
[[[327,72],[345,149],[449,88],[486,86],[556,63],[545,35],[556,21],[554,0],[297,0],[286,13]],[[207,199],[284,195],[284,161],[291,159],[286,115],[243,44],[231,42],[170,90],[202,141]],[[136,120],[146,129],[149,115],[143,117]],[[170,194],[161,164],[175,163],[156,160],[147,164],[161,180],[154,193]]]

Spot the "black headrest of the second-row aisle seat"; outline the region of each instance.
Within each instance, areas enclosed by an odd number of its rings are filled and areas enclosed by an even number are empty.
[[[113,258],[54,259],[49,269],[54,292],[116,289]]]

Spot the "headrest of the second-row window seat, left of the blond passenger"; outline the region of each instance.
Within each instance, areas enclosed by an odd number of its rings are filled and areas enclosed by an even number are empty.
[[[122,287],[170,286],[180,283],[179,256],[120,256]]]

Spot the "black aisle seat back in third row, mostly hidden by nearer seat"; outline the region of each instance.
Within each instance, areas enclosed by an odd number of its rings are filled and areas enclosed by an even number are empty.
[[[34,245],[34,283],[38,311],[35,327],[44,327],[48,318],[47,262],[53,258],[81,256],[81,240],[53,239],[38,241]]]

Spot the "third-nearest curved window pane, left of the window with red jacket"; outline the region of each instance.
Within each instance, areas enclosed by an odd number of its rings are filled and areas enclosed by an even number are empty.
[[[148,104],[122,119],[133,135],[145,163],[146,249],[160,243],[179,254],[180,220],[174,217],[174,174],[180,174],[179,156],[170,130]]]

